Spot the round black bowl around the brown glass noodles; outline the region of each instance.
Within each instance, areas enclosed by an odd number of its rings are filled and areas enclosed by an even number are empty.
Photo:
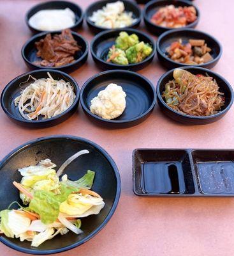
[[[157,101],[159,103],[159,106],[161,110],[170,118],[172,118],[175,121],[181,122],[183,124],[210,124],[212,122],[216,122],[220,118],[222,118],[227,111],[231,108],[231,105],[233,104],[233,89],[231,88],[230,83],[224,79],[224,77],[220,76],[216,72],[213,72],[211,70],[208,70],[207,68],[201,68],[201,67],[180,67],[184,68],[187,71],[191,72],[192,74],[203,74],[206,76],[213,77],[216,79],[217,84],[219,84],[219,91],[224,93],[225,97],[225,104],[221,109],[221,112],[217,113],[216,115],[211,116],[190,116],[183,113],[179,113],[172,108],[170,108],[165,100],[161,97],[163,94],[163,91],[165,90],[165,84],[168,83],[168,81],[173,80],[173,70],[170,70],[166,72],[163,76],[160,77],[159,81],[157,82]]]

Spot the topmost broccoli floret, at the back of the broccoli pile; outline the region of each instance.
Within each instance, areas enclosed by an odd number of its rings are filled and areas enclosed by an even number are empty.
[[[115,47],[126,51],[129,47],[139,43],[138,36],[136,34],[128,35],[127,32],[119,33],[119,36],[115,40]]]

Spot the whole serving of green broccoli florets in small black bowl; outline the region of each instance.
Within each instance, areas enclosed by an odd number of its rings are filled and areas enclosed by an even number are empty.
[[[122,31],[109,49],[106,61],[118,65],[135,64],[145,60],[152,51],[152,47],[140,42],[136,34],[128,35]]]

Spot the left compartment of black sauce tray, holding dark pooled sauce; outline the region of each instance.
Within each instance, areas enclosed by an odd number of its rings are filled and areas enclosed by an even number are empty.
[[[188,152],[180,149],[134,150],[133,190],[136,195],[149,196],[194,194]]]

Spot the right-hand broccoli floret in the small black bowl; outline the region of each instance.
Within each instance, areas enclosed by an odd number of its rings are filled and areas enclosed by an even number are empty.
[[[126,56],[128,58],[129,63],[138,63],[142,60],[145,60],[147,56],[152,52],[152,47],[149,44],[145,44],[144,42],[140,42],[132,47],[129,47],[126,50]]]

